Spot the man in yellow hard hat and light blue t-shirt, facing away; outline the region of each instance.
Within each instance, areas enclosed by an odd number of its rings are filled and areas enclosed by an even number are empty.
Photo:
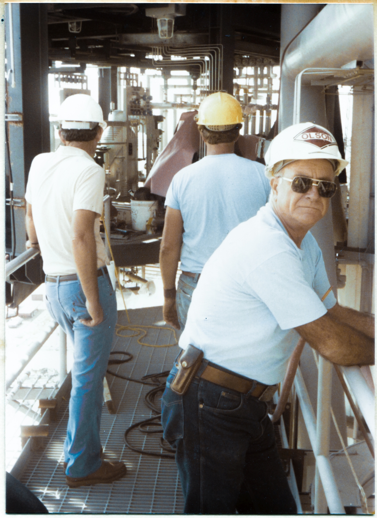
[[[266,204],[270,192],[263,165],[234,152],[243,120],[237,99],[223,92],[211,94],[200,104],[197,117],[207,154],[172,179],[159,257],[164,320],[182,330],[206,261],[231,229]],[[179,260],[182,274],[176,290]]]

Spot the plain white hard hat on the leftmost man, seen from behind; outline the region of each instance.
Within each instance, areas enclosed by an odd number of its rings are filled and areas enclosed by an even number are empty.
[[[86,94],[67,97],[60,105],[57,119],[63,130],[91,130],[96,124],[105,130],[107,126],[101,107]]]

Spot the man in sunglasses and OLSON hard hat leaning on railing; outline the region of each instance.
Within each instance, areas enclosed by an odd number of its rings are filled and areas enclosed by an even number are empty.
[[[336,364],[374,362],[370,316],[339,306],[332,292],[321,301],[330,285],[309,229],[347,164],[334,137],[296,124],[265,160],[269,203],[202,270],[162,398],[185,513],[296,513],[265,401],[300,336]]]

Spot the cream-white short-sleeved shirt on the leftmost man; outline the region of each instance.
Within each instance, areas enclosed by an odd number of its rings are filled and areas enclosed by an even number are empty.
[[[33,220],[47,275],[76,274],[72,254],[72,214],[91,210],[101,214],[105,171],[82,149],[60,146],[53,153],[37,155],[32,162],[25,198],[32,205]],[[94,223],[97,268],[108,258]]]

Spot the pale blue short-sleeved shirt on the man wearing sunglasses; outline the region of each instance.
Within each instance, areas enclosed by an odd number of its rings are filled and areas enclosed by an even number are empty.
[[[299,335],[294,327],[336,304],[310,232],[299,249],[268,203],[241,223],[206,263],[179,340],[229,370],[281,382]]]

